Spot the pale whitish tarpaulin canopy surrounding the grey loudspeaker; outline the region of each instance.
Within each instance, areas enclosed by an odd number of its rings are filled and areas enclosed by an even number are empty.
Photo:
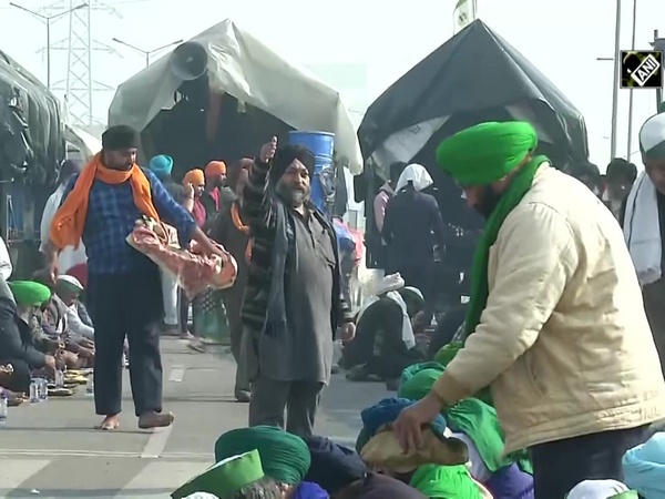
[[[228,19],[191,42],[207,52],[211,91],[224,92],[295,130],[335,133],[337,154],[348,159],[351,173],[361,172],[360,147],[346,106],[335,90],[307,69],[287,62]],[[172,55],[163,57],[117,88],[109,124],[144,131],[162,110],[174,106],[174,94],[183,82],[172,69]]]

